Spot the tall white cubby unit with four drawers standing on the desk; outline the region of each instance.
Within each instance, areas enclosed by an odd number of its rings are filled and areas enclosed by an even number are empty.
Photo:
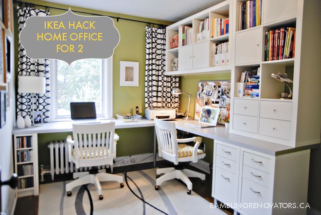
[[[232,26],[235,28],[239,2],[246,1],[233,2],[236,16]],[[320,5],[317,1],[307,0],[262,0],[262,24],[241,31],[235,28],[235,36],[232,36],[235,61],[231,74],[234,83],[231,93],[231,133],[291,147],[320,143],[321,122],[315,119],[320,116],[320,101],[316,101],[314,93],[308,92],[311,86],[319,85],[312,79],[320,80],[317,78],[320,77],[317,61],[312,60],[316,58],[313,55],[318,55],[315,54],[317,48],[312,45],[312,38],[316,37],[314,34],[318,35],[318,27],[313,27],[313,17],[316,15],[310,12],[316,4]],[[296,29],[295,58],[265,61],[265,32],[283,27]],[[311,49],[306,50],[306,47]],[[260,96],[237,97],[236,83],[240,80],[241,72],[258,67],[261,68]],[[281,92],[287,92],[287,89],[284,82],[271,77],[272,73],[278,72],[286,72],[288,78],[293,80],[290,85],[292,99],[280,99]],[[304,126],[300,126],[303,122]]]

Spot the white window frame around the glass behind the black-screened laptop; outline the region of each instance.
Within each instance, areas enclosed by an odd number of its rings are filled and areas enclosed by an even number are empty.
[[[98,114],[97,118],[112,118],[112,56],[107,59],[102,59],[102,109],[103,113]],[[50,121],[71,120],[71,116],[58,116],[57,103],[57,60],[50,59]]]

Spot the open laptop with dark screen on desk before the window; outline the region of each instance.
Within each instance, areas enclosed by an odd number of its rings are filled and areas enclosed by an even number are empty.
[[[96,117],[96,107],[94,102],[71,102],[70,111],[72,123],[100,123]]]

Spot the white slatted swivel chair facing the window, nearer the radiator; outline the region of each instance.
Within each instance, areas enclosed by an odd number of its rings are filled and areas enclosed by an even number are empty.
[[[98,171],[97,166],[113,165],[115,157],[115,123],[100,124],[73,124],[72,135],[67,137],[69,147],[69,161],[74,162],[76,168],[93,167],[89,172],[73,173],[75,180],[66,184],[67,196],[71,196],[71,190],[83,184],[95,184],[99,199],[103,199],[102,188],[99,181],[118,181],[124,187],[122,176],[106,173],[106,170]],[[116,137],[118,140],[118,136]],[[78,179],[77,179],[78,178]]]

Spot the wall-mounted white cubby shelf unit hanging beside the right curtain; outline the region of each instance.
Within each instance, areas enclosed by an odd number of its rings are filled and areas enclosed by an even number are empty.
[[[208,73],[231,72],[231,3],[225,0],[191,17],[166,27],[166,74],[167,75],[196,75]],[[199,32],[201,21],[208,18],[208,27]],[[214,18],[229,18],[229,33],[214,35]],[[205,24],[204,24],[205,25]],[[191,43],[182,44],[183,26],[192,29]],[[217,29],[217,28],[216,28]],[[197,39],[200,34],[200,39]],[[170,37],[178,35],[178,47],[170,48]],[[215,56],[213,46],[229,42],[227,54]],[[222,55],[222,56],[221,56]],[[172,71],[171,60],[178,58],[178,70]],[[217,64],[215,65],[215,61]],[[223,62],[223,63],[220,63]]]

